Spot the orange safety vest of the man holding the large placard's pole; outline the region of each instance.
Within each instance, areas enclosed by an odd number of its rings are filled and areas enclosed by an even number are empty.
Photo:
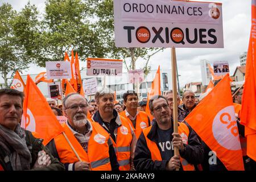
[[[147,138],[147,135],[150,132],[151,127],[152,126],[147,127],[142,132],[144,134],[144,137],[146,138],[147,147],[150,150],[152,160],[153,161],[162,160],[162,156],[160,154],[159,148],[156,145],[156,143]],[[185,123],[179,123],[178,131],[183,140],[183,143],[188,144],[188,135],[189,135],[188,126],[185,125]],[[195,171],[195,167],[192,164],[189,164],[187,160],[180,158],[180,162],[184,171]]]

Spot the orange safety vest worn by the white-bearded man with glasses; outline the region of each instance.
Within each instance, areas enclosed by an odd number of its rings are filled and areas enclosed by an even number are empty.
[[[63,127],[77,154],[82,161],[90,163],[92,171],[111,171],[108,145],[110,135],[98,123],[91,122],[91,124],[93,130],[89,139],[87,153],[68,126],[64,125]],[[63,134],[58,135],[54,140],[61,163],[75,163],[79,161]]]

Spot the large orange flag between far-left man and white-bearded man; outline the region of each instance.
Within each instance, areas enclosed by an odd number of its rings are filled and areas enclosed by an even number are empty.
[[[44,145],[64,131],[46,98],[29,75],[27,76],[21,126],[34,132],[39,138],[43,138]]]

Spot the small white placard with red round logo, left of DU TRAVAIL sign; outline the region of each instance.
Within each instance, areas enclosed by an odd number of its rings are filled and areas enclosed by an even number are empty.
[[[69,61],[48,61],[46,62],[46,74],[48,79],[71,78],[71,64]]]

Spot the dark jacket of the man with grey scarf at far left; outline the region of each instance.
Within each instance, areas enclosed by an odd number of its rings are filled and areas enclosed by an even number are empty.
[[[32,147],[28,147],[28,150],[30,150],[30,153],[32,156],[32,163],[30,164],[31,170],[34,170],[34,171],[50,171],[50,170],[64,171],[65,170],[64,165],[60,163],[58,159],[53,157],[53,155],[51,154],[51,152],[48,150],[47,147],[44,147],[42,143],[43,139],[35,138],[30,131],[25,130],[25,133],[26,133],[27,146],[31,146],[32,144]],[[38,152],[41,150],[46,151],[46,154],[48,154],[51,157],[51,164],[49,164],[48,167],[32,169],[36,160],[38,159]],[[5,151],[0,146],[0,164],[2,168],[5,171],[13,171],[13,168],[11,167],[11,163],[10,162],[5,163],[5,160],[4,160],[5,157],[6,157]]]

